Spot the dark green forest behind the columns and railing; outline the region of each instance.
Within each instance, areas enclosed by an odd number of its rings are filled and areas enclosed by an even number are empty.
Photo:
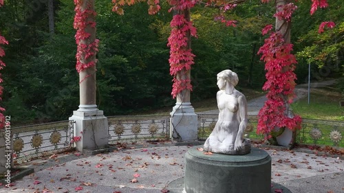
[[[0,32],[9,42],[4,46],[3,106],[14,122],[67,120],[78,109],[74,3],[56,0],[49,9],[48,1],[5,0],[1,8]],[[292,20],[297,83],[308,80],[308,63],[313,80],[343,76],[344,71],[344,2],[329,1],[327,10],[312,16],[310,3],[299,0]],[[146,3],[127,7],[119,16],[111,12],[111,1],[96,0],[97,104],[105,115],[175,104],[166,46],[172,13],[164,1],[161,5],[153,16]],[[191,43],[196,55],[191,102],[214,98],[216,74],[223,69],[238,73],[239,88],[261,89],[265,71],[257,51],[265,38],[261,29],[275,22],[273,3],[246,0],[237,5],[228,13],[228,18],[238,21],[237,27],[215,21],[216,8],[198,5],[191,13],[198,36]],[[322,21],[334,21],[336,27],[320,35]],[[344,86],[338,89],[344,91]]]

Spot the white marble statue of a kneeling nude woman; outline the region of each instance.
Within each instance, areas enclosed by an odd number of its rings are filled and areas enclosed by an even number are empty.
[[[217,107],[219,119],[204,143],[204,151],[228,155],[245,155],[250,152],[250,140],[244,139],[248,124],[245,95],[235,89],[237,73],[226,69],[217,74]]]

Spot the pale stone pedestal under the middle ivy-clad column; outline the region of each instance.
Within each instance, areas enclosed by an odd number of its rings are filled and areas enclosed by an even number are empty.
[[[170,115],[171,139],[179,141],[197,140],[197,114],[190,102],[177,102]]]

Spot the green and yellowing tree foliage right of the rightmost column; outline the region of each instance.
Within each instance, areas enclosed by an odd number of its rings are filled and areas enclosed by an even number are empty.
[[[308,76],[308,63],[312,65],[312,78],[343,76],[344,65],[344,2],[329,1],[325,10],[316,10],[310,16],[311,1],[299,1],[298,10],[293,18],[292,38],[297,51],[297,60],[302,66],[298,69],[299,82]],[[323,21],[333,21],[336,27],[325,29],[319,34]]]

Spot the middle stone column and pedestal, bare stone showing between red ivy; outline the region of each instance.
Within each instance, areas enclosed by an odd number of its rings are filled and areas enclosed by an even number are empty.
[[[190,10],[182,10],[181,14],[184,14],[186,19],[190,20]],[[189,38],[189,45],[186,49],[191,47],[191,35],[187,35]],[[191,80],[191,71],[182,71],[177,74],[178,80]],[[197,114],[191,106],[190,91],[184,89],[177,95],[177,102],[173,106],[171,115],[170,137],[177,141],[196,141],[197,140]]]

